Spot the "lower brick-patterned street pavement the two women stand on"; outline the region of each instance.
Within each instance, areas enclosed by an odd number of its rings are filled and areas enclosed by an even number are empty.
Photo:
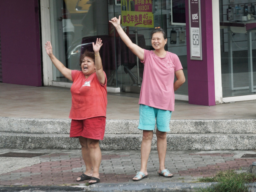
[[[76,182],[85,171],[80,150],[2,148],[0,154],[0,186],[12,186],[2,188],[6,191],[13,191],[15,186],[29,186],[29,190],[32,186],[48,186],[40,189],[42,191],[56,186],[79,187],[76,190],[83,188],[86,191],[162,191],[163,188],[166,191],[192,191],[195,187],[212,184],[196,183],[198,178],[213,177],[219,171],[231,169],[246,172],[256,161],[256,150],[167,151],[165,165],[174,177],[164,178],[157,173],[159,160],[157,151],[153,150],[148,159],[148,178],[132,181],[140,169],[140,151],[103,150],[100,183],[87,186],[88,180]]]

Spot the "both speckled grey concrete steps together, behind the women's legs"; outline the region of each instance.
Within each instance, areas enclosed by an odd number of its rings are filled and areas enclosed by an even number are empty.
[[[70,119],[0,117],[0,148],[79,149],[78,139],[69,138]],[[250,150],[256,148],[256,121],[171,120],[168,150]],[[138,150],[142,131],[138,120],[107,120],[102,150]],[[152,140],[156,150],[156,135]]]

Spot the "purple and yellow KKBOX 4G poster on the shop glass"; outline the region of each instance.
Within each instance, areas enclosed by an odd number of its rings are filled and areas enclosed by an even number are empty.
[[[122,25],[154,28],[152,0],[121,0]]]

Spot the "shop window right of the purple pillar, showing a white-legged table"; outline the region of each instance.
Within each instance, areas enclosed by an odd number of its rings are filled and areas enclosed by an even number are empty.
[[[255,0],[220,0],[223,98],[256,92]]]

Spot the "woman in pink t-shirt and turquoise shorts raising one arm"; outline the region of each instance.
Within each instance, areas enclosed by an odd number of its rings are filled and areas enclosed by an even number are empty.
[[[156,129],[157,151],[159,157],[158,174],[173,177],[164,165],[167,141],[166,133],[170,131],[169,123],[174,110],[174,91],[184,82],[185,76],[178,56],[164,50],[167,36],[163,29],[151,32],[151,44],[154,50],[142,49],[132,43],[120,26],[121,16],[112,18],[111,22],[127,47],[144,63],[143,80],[140,91],[140,123],[143,130],[141,142],[141,167],[132,180],[139,181],[148,177],[147,163],[151,149],[153,131]],[[174,82],[174,76],[177,80]]]

